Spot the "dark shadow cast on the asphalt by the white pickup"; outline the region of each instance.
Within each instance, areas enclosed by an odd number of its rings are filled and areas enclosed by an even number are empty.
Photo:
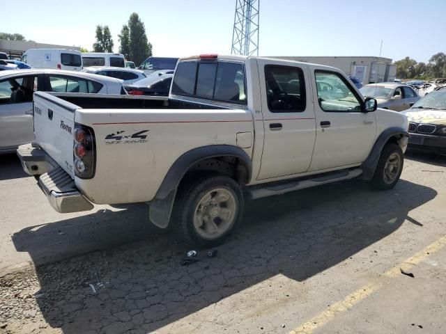
[[[200,252],[201,261],[185,267],[180,259],[187,248],[174,235],[139,231],[134,239],[144,235],[143,241],[115,248],[105,243],[102,250],[38,266],[38,305],[48,324],[66,334],[155,331],[278,273],[298,281],[310,278],[383,239],[406,219],[417,223],[408,212],[436,194],[404,180],[383,192],[352,181],[248,202],[243,224],[218,248],[217,257]],[[114,229],[128,221],[126,215],[134,218],[125,210],[98,212],[91,220],[101,219],[96,233],[116,232],[118,240],[122,229]],[[51,251],[56,241],[45,230],[75,229],[79,219],[32,234],[18,232],[15,246],[37,259],[41,251],[26,238],[40,238]],[[138,225],[147,223],[145,215],[139,219]],[[82,233],[79,229],[77,238],[89,237]],[[100,249],[101,242],[92,249]]]

